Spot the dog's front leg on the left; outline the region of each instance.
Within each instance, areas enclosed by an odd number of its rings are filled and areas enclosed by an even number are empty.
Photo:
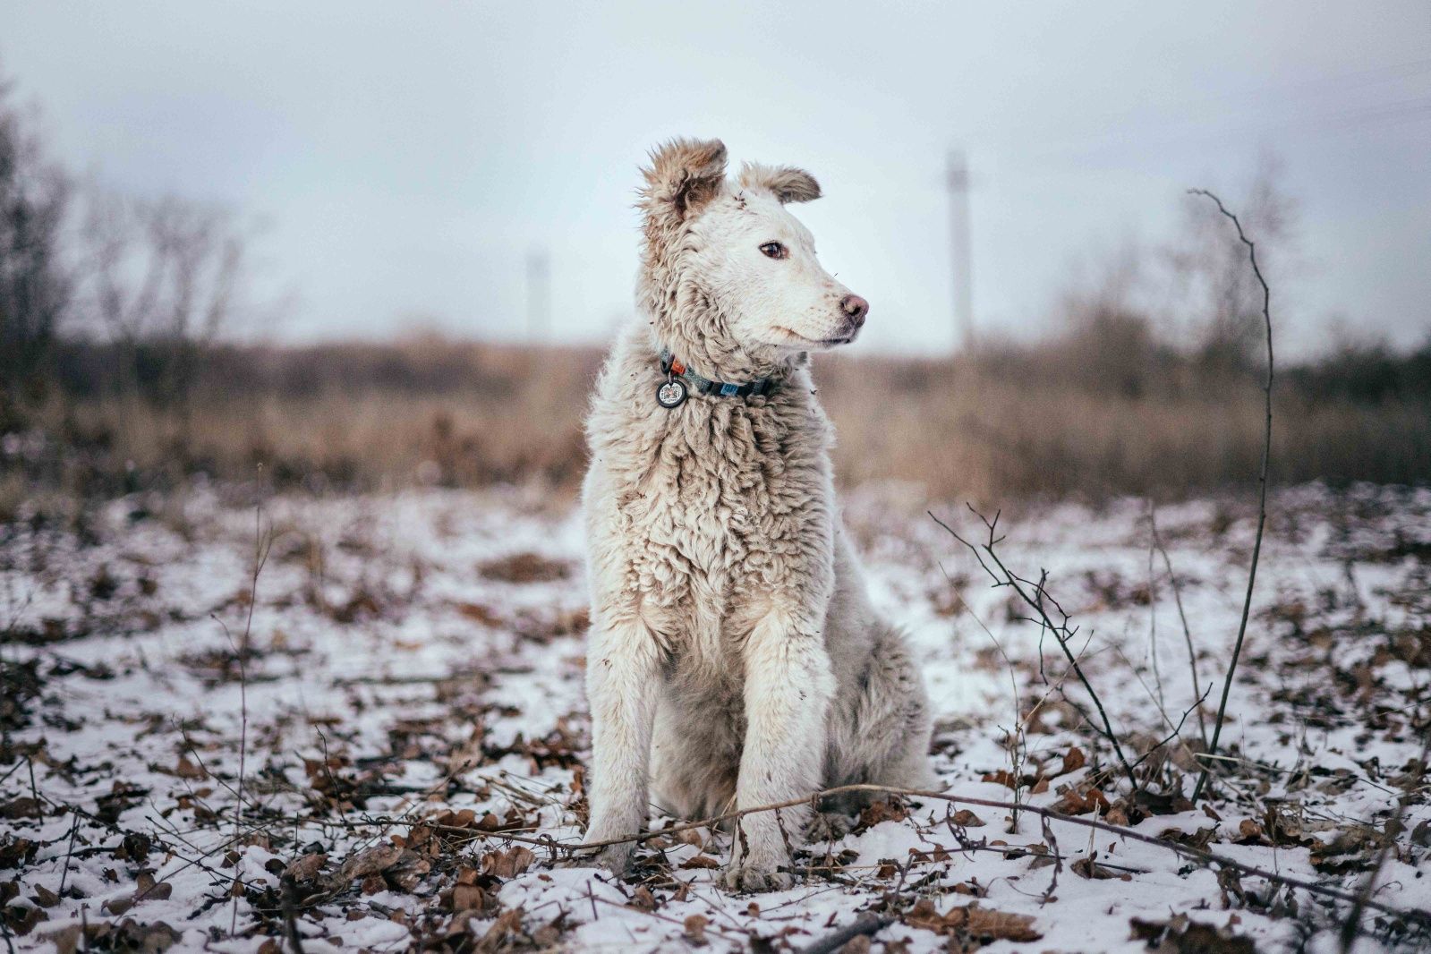
[[[660,646],[643,624],[594,628],[587,654],[591,704],[591,824],[585,841],[630,838],[647,818],[651,727],[661,678]],[[597,862],[627,870],[631,842],[608,845]]]

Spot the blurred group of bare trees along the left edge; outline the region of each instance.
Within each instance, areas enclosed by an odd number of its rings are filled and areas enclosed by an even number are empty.
[[[0,82],[0,432],[56,386],[86,390],[82,369],[187,419],[240,308],[245,240],[222,206],[77,180]]]

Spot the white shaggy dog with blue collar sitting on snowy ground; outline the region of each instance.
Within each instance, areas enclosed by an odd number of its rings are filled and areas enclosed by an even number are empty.
[[[870,608],[830,481],[809,352],[869,305],[784,205],[806,172],[674,140],[643,170],[638,305],[597,382],[582,502],[592,586],[587,841],[657,804],[707,817],[849,782],[929,782],[929,707]],[[849,807],[849,805],[846,805]],[[809,811],[736,825],[730,888],[788,887]],[[625,870],[630,844],[598,861]]]

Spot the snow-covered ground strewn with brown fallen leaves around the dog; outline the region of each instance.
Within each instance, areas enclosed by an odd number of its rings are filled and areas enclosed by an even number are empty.
[[[946,792],[1349,892],[1379,862],[1372,900],[1431,908],[1431,492],[1274,495],[1222,771],[1196,807],[1182,797],[1238,629],[1246,501],[1158,511],[1176,594],[1143,502],[1025,505],[999,522],[1006,565],[1049,571],[1129,759],[1192,705],[1191,638],[1211,695],[1139,765],[1139,798],[1079,718],[1089,698],[1053,635],[914,493],[867,489],[846,509],[877,604],[926,661]],[[970,512],[933,509],[982,538]],[[708,830],[647,841],[624,881],[554,865],[544,842],[578,841],[585,812],[581,548],[567,506],[519,491],[209,488],[64,529],[0,526],[7,940],[768,951],[879,915],[889,925],[847,950],[1339,950],[1345,903],[930,798],[806,845],[796,887],[776,894],[718,890],[727,845]],[[1357,950],[1431,943],[1385,913],[1361,925]]]

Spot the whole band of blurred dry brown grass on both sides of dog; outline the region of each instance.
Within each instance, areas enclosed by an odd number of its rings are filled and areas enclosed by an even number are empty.
[[[53,403],[57,448],[89,448],[86,473],[126,485],[185,472],[376,488],[537,481],[572,492],[594,349],[408,342],[230,350],[187,418],[139,398]],[[1256,476],[1261,393],[1252,378],[1100,388],[1049,373],[1058,356],[897,360],[821,356],[837,478],[899,479],[940,498],[1176,496]],[[1431,476],[1421,396],[1357,402],[1279,395],[1272,475],[1410,483]],[[72,481],[74,482],[74,481]]]

